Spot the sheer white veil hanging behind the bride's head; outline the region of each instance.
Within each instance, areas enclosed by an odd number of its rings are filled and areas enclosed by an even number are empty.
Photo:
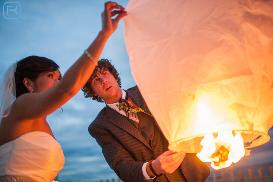
[[[9,114],[10,106],[16,99],[14,72],[16,71],[17,63],[18,61],[8,67],[0,82],[0,123],[2,117],[6,117]]]

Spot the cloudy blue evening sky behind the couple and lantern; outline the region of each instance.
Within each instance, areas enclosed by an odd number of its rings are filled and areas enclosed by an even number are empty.
[[[129,0],[116,2],[126,7]],[[80,57],[101,29],[102,0],[28,0],[17,2],[21,6],[18,19],[5,19],[0,0],[0,76],[15,60],[37,55],[55,60],[62,74]],[[129,57],[123,38],[122,21],[110,37],[101,58],[112,60],[121,73],[122,88],[136,85],[131,75]],[[99,181],[117,178],[106,163],[100,146],[88,133],[88,126],[105,107],[83,97],[82,91],[48,116],[47,121],[66,157],[58,180]],[[273,136],[272,129],[269,133]],[[273,163],[272,140],[253,149],[251,156],[235,168],[259,163]]]

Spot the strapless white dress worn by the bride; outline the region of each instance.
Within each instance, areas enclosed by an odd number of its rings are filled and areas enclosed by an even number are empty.
[[[0,176],[52,182],[65,157],[60,144],[45,132],[29,132],[0,146]]]

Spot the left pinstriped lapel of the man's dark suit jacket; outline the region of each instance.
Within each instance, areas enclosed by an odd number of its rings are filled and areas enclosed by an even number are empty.
[[[124,131],[130,133],[132,136],[134,136],[136,139],[140,140],[142,143],[144,143],[147,147],[150,147],[150,145],[147,143],[147,141],[144,139],[144,137],[140,134],[140,132],[128,121],[126,116],[116,112],[114,109],[110,108],[108,105],[106,105],[106,116],[108,117],[108,121],[113,123],[114,125],[118,126],[119,128],[123,129]]]

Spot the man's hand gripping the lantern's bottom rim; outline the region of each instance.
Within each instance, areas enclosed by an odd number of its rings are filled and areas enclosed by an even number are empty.
[[[153,170],[157,173],[171,174],[182,163],[186,153],[168,150],[152,161]]]

